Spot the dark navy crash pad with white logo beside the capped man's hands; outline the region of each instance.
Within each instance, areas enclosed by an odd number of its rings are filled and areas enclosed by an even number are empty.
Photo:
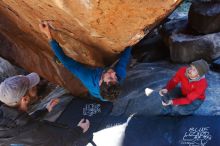
[[[95,132],[100,123],[106,119],[112,111],[112,106],[111,102],[73,99],[56,122],[74,127],[78,124],[80,119],[86,118],[90,121],[90,129],[87,132],[88,135],[90,135]]]

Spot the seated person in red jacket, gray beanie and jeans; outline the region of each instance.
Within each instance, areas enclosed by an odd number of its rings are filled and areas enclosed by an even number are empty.
[[[181,67],[159,91],[163,114],[190,115],[198,109],[205,99],[208,71],[209,66],[203,59],[192,62],[189,67]]]

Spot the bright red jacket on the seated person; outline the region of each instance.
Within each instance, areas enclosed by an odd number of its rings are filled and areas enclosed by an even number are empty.
[[[189,82],[185,76],[187,67],[180,68],[175,76],[167,83],[166,89],[172,90],[178,83],[181,84],[181,91],[183,97],[173,99],[173,105],[191,104],[196,99],[205,99],[205,90],[207,88],[207,80],[205,78],[199,81]]]

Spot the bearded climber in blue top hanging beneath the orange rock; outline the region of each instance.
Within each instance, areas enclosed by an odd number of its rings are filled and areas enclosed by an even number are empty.
[[[117,99],[121,84],[126,78],[126,67],[131,57],[131,47],[127,47],[114,67],[89,68],[65,55],[60,45],[52,37],[48,21],[39,24],[40,30],[47,36],[49,44],[60,62],[88,89],[90,96],[101,101]]]

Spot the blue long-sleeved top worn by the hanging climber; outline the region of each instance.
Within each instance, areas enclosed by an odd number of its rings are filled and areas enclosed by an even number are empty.
[[[100,95],[100,87],[99,87],[99,81],[101,79],[104,68],[103,67],[97,67],[97,68],[86,67],[85,65],[66,56],[62,48],[60,47],[60,45],[55,40],[49,41],[49,44],[53,52],[57,56],[57,58],[60,60],[60,62],[71,73],[73,73],[77,78],[81,80],[83,85],[89,90],[89,93],[92,96],[102,101],[106,101]],[[114,67],[119,83],[122,83],[122,81],[126,77],[126,67],[129,62],[130,56],[131,56],[131,48],[129,47],[122,53],[118,63]]]

